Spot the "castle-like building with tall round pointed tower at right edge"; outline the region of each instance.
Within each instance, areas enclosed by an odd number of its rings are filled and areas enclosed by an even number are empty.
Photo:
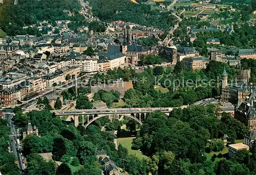
[[[227,83],[228,74],[226,69],[222,73],[222,93],[221,101],[230,102],[232,104],[238,104],[245,102],[251,95],[256,95],[256,86],[248,85],[247,83]]]

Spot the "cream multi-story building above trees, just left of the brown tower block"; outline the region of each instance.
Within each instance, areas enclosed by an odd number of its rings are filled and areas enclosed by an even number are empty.
[[[189,69],[191,71],[194,71],[194,70],[197,70],[197,69],[205,69],[206,68],[205,59],[202,58],[202,57],[184,58],[183,62],[184,62],[185,68]]]

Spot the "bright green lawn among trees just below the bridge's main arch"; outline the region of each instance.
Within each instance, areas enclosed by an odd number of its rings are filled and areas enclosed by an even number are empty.
[[[134,139],[135,137],[126,137],[126,138],[118,138],[117,139],[117,143],[121,143],[121,145],[123,147],[126,147],[127,150],[128,150],[128,153],[130,155],[136,155],[139,159],[147,159],[148,157],[143,155],[141,152],[139,152],[138,150],[133,150],[132,149],[132,140]]]

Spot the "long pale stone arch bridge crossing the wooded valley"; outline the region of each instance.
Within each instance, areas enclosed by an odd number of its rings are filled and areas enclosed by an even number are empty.
[[[187,106],[182,106],[180,108],[186,108]],[[119,118],[120,116],[127,116],[136,120],[141,125],[146,118],[146,114],[152,113],[154,111],[161,111],[166,115],[169,115],[171,111],[175,108],[114,108],[114,109],[85,109],[85,110],[75,110],[75,111],[52,111],[56,116],[71,116],[75,121],[75,126],[77,127],[78,116],[82,115],[82,126],[87,128],[89,124],[93,121],[104,117],[109,116],[111,119],[113,117]],[[86,116],[86,117],[84,117]],[[86,118],[84,121],[84,118]]]

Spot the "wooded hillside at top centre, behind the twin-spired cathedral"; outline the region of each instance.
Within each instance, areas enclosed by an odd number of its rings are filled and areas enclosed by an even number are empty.
[[[90,1],[93,13],[101,20],[124,20],[148,27],[168,30],[174,26],[176,18],[170,12],[151,10],[151,6],[135,4],[130,0],[98,0]]]

